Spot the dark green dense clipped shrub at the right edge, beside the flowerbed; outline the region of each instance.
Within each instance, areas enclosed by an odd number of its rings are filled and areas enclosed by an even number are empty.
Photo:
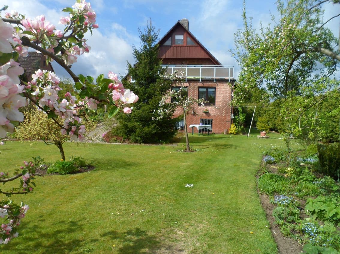
[[[340,178],[340,143],[318,145],[320,173],[334,179]]]

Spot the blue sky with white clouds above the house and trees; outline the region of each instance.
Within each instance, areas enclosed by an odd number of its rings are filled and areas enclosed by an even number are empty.
[[[124,75],[126,61],[134,63],[132,45],[139,46],[138,27],[144,28],[151,18],[153,26],[160,29],[159,39],[182,18],[189,20],[191,33],[223,65],[234,65],[237,75],[239,67],[232,58],[230,49],[234,48],[233,34],[242,28],[242,1],[232,0],[122,0],[89,1],[97,13],[99,28],[93,36],[86,34],[89,54],[78,58],[72,65],[75,74],[85,76],[107,75],[113,71]],[[8,5],[8,10],[17,10],[33,18],[44,14],[57,28],[60,17],[65,16],[61,10],[74,4],[71,0],[0,0],[1,5]],[[334,16],[338,9],[332,5],[325,6],[325,19]],[[253,17],[254,27],[268,24],[271,14],[276,15],[276,2],[270,0],[246,0],[247,16]],[[330,22],[328,27],[337,35],[339,18]],[[56,63],[52,63],[59,77],[68,77]]]

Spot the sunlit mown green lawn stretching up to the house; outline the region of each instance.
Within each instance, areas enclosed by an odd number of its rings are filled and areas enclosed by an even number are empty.
[[[30,206],[19,238],[1,253],[277,253],[256,191],[270,139],[189,135],[194,153],[176,145],[65,144],[96,169],[37,177],[33,193],[12,196]],[[7,142],[1,171],[55,146]],[[193,188],[185,188],[193,184]],[[4,197],[2,197],[4,198]]]

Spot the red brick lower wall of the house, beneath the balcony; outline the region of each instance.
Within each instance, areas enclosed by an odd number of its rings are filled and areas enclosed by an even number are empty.
[[[227,82],[198,82],[188,81],[183,84],[188,86],[188,95],[195,99],[198,99],[199,87],[216,87],[216,103],[214,105],[206,105],[204,108],[195,104],[193,105],[194,114],[191,112],[187,115],[187,128],[190,124],[199,124],[200,119],[212,119],[212,132],[224,133],[224,130],[228,131],[231,125],[231,110],[230,105],[232,99],[231,83]],[[218,107],[218,108],[216,108]],[[209,113],[203,113],[203,109],[208,109]],[[174,116],[183,114],[183,109],[178,108]],[[191,131],[188,129],[188,131]],[[198,133],[198,130],[194,128],[194,132]]]

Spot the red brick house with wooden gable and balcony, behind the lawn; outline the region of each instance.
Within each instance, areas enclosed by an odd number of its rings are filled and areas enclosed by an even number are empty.
[[[208,36],[208,35],[207,35]],[[232,123],[232,86],[234,66],[223,66],[189,31],[189,21],[179,20],[159,40],[158,57],[162,59],[163,67],[168,72],[184,71],[188,87],[188,96],[204,98],[209,101],[202,108],[194,105],[193,111],[187,115],[187,127],[190,124],[209,124],[212,132],[224,133]],[[172,89],[176,89],[173,87]],[[203,112],[208,110],[209,112]],[[174,116],[183,114],[178,108]],[[184,130],[183,121],[179,123],[179,130]],[[189,129],[188,129],[189,131]],[[194,128],[194,132],[198,132]]]

